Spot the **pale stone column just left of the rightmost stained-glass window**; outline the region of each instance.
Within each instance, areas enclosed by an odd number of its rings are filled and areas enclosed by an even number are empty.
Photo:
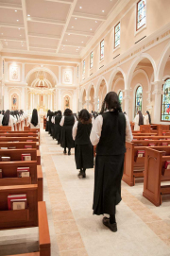
[[[154,85],[154,91],[152,94],[155,96],[155,104],[154,104],[154,124],[160,124],[161,122],[161,95],[162,95],[162,85],[163,81],[155,81],[152,82]]]

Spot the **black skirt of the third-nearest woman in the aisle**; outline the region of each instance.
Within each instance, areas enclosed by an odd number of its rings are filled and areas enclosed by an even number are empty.
[[[75,142],[72,137],[72,126],[63,126],[61,128],[60,135],[60,146],[63,148],[73,148],[75,147]]]

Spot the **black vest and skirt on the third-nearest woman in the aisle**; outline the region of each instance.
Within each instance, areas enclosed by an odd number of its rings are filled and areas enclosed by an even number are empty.
[[[75,147],[75,142],[72,137],[72,128],[75,124],[74,115],[69,115],[64,117],[64,125],[61,128],[60,135],[60,146],[63,148],[73,148]]]

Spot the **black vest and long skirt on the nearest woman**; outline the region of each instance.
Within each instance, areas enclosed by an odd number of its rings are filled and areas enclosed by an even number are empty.
[[[96,146],[93,214],[114,214],[121,200],[121,179],[126,152],[126,118],[123,113],[102,114],[101,137]]]

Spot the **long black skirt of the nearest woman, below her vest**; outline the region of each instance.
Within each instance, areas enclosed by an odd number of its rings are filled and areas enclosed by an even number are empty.
[[[114,214],[121,200],[121,179],[124,172],[124,154],[96,156],[94,172],[93,214]]]

